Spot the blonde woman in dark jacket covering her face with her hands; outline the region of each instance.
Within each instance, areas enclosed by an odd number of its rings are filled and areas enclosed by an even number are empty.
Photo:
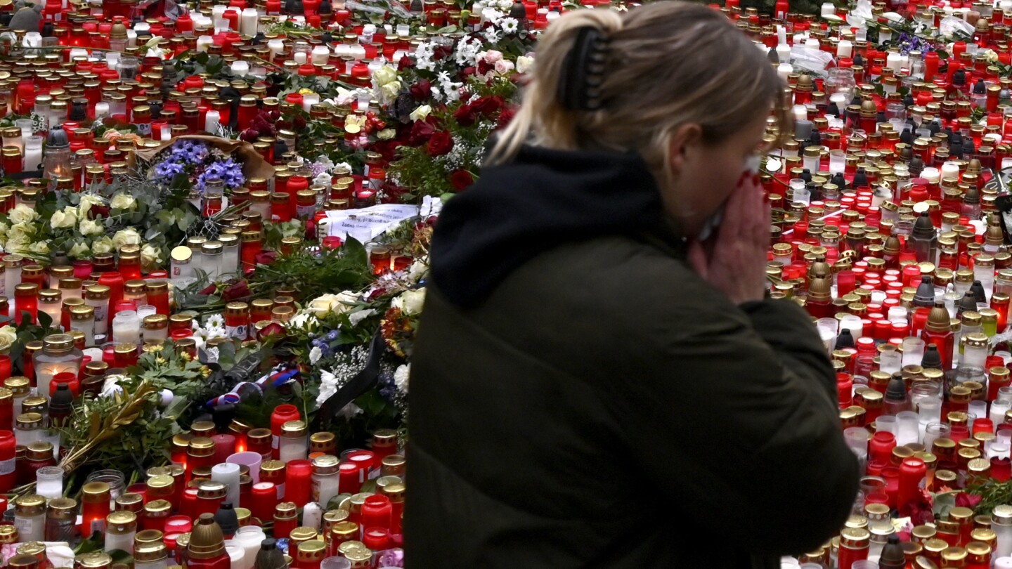
[[[783,84],[681,2],[569,13],[535,62],[436,227],[409,567],[778,567],[820,547],[859,475],[811,319],[764,300],[749,163],[771,109],[789,132]]]

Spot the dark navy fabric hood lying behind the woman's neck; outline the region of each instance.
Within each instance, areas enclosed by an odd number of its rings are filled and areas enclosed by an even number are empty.
[[[639,154],[524,147],[446,202],[432,237],[432,279],[454,305],[474,307],[541,252],[637,233],[662,216],[657,182]]]

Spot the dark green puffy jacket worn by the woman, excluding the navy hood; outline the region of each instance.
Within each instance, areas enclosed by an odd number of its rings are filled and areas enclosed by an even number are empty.
[[[857,461],[797,305],[735,306],[663,231],[459,304],[430,283],[413,356],[409,568],[778,567],[842,526]]]

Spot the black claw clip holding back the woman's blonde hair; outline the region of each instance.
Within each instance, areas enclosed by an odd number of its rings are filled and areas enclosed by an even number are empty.
[[[597,110],[602,106],[601,84],[608,40],[601,30],[584,26],[577,31],[559,80],[559,101],[571,110]]]

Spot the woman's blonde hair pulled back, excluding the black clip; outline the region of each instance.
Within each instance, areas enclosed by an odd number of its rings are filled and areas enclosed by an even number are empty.
[[[570,110],[559,100],[560,77],[580,28],[608,39],[597,110]],[[638,151],[659,183],[671,180],[671,134],[696,123],[719,143],[760,113],[776,109],[787,128],[784,84],[752,42],[721,12],[662,1],[624,14],[579,9],[556,20],[539,39],[523,103],[500,134],[486,164],[508,162],[524,144],[560,150]]]

